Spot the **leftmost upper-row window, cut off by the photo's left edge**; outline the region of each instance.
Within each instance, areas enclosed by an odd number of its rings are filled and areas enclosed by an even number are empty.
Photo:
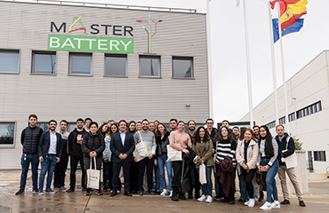
[[[0,73],[19,72],[20,51],[0,50]]]

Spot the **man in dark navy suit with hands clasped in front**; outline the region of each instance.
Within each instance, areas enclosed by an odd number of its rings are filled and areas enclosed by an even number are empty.
[[[112,135],[110,149],[112,151],[113,163],[113,190],[111,196],[116,195],[116,190],[120,188],[118,185],[118,177],[121,166],[124,168],[124,195],[132,196],[130,193],[130,164],[133,161],[132,152],[135,150],[135,141],[131,133],[127,132],[127,122],[121,120],[119,122],[119,132]]]

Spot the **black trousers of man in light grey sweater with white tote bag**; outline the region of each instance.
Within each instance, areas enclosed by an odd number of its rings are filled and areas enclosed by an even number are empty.
[[[144,158],[140,162],[138,162],[138,187],[140,192],[143,192],[143,180],[144,173],[146,167],[146,174],[148,177],[148,192],[151,192],[153,189],[153,165],[154,159],[148,159],[148,157]]]

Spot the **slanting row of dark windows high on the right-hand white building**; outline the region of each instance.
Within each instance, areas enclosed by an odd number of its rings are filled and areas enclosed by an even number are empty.
[[[288,120],[289,120],[289,122],[293,122],[294,120],[296,120],[296,114],[297,114],[297,119],[300,119],[309,114],[315,114],[321,110],[322,110],[322,106],[321,106],[321,100],[320,100],[320,101],[317,101],[317,103],[314,103],[314,104],[306,106],[300,110],[297,110],[296,113],[293,112],[292,114],[288,114]],[[285,124],[285,116],[282,118],[279,118],[278,122],[280,124]],[[268,124],[266,124],[266,126],[269,129],[274,128],[274,127],[276,127],[276,121],[269,122]]]

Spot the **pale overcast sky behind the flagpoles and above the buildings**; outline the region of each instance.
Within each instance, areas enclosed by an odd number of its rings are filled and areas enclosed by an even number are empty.
[[[81,2],[82,0],[79,0]],[[107,4],[160,6],[206,12],[207,0],[84,0]],[[249,113],[245,53],[244,0],[210,2],[211,57],[213,70],[213,120],[238,122]],[[253,107],[274,90],[266,1],[245,0],[252,75]],[[285,80],[288,80],[322,51],[329,50],[329,1],[309,0],[308,14],[299,33],[283,38]],[[277,10],[271,12],[277,18]],[[277,88],[283,83],[280,44],[275,43]]]

